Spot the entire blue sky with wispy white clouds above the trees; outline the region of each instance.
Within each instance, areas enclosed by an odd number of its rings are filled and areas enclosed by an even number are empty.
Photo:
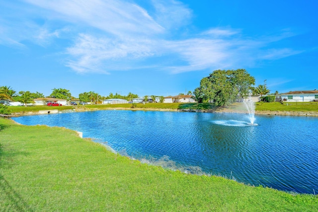
[[[0,86],[166,96],[245,69],[271,92],[318,89],[317,11],[316,0],[0,0]]]

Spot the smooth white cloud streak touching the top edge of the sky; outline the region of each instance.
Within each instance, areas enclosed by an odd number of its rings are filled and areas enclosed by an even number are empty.
[[[116,36],[151,35],[163,28],[140,6],[123,0],[27,0],[48,16],[86,24]]]

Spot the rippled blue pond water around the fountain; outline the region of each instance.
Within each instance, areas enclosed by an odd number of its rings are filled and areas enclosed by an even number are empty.
[[[318,118],[93,111],[13,118],[66,127],[130,157],[283,191],[318,193]]]

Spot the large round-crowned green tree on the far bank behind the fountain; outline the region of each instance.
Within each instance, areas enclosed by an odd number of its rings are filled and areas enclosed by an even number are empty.
[[[216,70],[200,81],[194,90],[198,102],[214,102],[217,106],[228,105],[249,94],[255,78],[244,69]]]

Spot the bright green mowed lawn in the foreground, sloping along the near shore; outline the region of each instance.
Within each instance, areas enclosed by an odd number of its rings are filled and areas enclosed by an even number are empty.
[[[0,118],[0,211],[317,211],[314,195],[142,164],[65,128]]]

